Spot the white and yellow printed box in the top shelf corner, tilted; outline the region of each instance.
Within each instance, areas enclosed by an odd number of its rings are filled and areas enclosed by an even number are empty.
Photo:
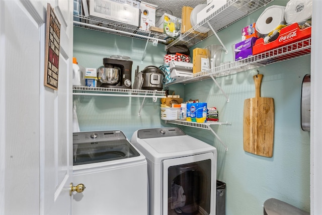
[[[177,38],[180,36],[181,31],[181,19],[169,14],[164,14],[160,19],[155,23],[155,26],[158,28],[164,29],[164,34]]]

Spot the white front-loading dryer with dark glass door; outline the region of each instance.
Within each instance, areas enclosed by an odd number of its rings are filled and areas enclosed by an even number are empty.
[[[216,148],[177,127],[137,130],[131,143],[147,160],[150,215],[216,213]]]

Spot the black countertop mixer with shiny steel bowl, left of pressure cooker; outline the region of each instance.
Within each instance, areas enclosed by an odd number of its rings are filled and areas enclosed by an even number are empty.
[[[101,87],[131,89],[131,74],[133,61],[119,56],[103,58],[104,67],[98,69],[98,79]]]

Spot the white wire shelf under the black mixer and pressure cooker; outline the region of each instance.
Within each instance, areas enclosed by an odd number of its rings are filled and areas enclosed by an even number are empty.
[[[83,87],[73,86],[75,96],[115,96],[115,97],[143,97],[143,98],[166,98],[165,91],[157,90],[134,90],[123,88]]]

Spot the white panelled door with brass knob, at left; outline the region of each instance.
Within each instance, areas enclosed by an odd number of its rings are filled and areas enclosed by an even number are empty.
[[[47,2],[61,24],[58,90],[44,86]],[[0,214],[68,214],[72,1],[0,1]]]

